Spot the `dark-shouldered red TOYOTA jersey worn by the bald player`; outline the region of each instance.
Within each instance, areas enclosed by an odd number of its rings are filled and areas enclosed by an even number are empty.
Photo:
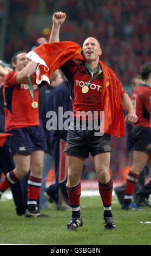
[[[101,90],[102,90],[102,78],[103,74],[95,77],[89,84],[88,93],[82,93],[83,84],[86,84],[91,76],[89,71],[82,62],[76,60],[68,60],[61,67],[62,72],[68,79],[69,87],[71,89],[71,97],[73,99],[73,113],[74,117],[79,118],[76,112],[94,112],[97,111],[98,117],[100,117],[101,109]],[[97,75],[97,72],[94,76]],[[107,83],[107,87],[109,82]],[[121,96],[124,95],[122,83],[119,82]]]

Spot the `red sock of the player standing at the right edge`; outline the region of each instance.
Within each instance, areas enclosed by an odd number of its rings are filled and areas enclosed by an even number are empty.
[[[126,191],[124,194],[124,204],[129,204],[132,200],[133,192],[136,186],[136,183],[139,179],[139,175],[129,171],[127,175],[127,181],[126,181]]]

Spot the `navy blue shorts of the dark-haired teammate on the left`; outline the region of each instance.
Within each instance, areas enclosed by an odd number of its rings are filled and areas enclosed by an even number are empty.
[[[16,128],[8,132],[12,133],[8,139],[12,156],[16,153],[30,155],[31,151],[47,150],[45,133],[40,125]]]

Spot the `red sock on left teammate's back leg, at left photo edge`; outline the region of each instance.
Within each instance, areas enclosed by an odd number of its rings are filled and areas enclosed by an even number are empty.
[[[4,180],[0,184],[0,195],[9,187],[14,185],[19,179],[14,174],[14,170],[7,173]]]

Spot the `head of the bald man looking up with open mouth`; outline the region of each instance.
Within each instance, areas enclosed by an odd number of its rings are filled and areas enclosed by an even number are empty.
[[[99,61],[99,57],[102,54],[99,42],[95,38],[87,38],[83,43],[83,56],[86,62]]]

